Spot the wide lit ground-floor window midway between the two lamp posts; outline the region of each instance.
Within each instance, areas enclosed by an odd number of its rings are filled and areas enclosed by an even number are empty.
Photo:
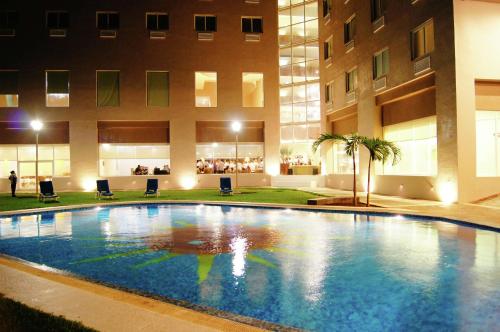
[[[168,144],[99,144],[99,175],[170,174]]]

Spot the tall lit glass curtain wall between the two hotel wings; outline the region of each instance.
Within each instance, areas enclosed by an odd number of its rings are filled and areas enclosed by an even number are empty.
[[[281,173],[294,174],[291,166],[320,162],[311,150],[321,130],[317,0],[278,0],[278,23],[281,150],[286,151],[281,159],[290,166]]]

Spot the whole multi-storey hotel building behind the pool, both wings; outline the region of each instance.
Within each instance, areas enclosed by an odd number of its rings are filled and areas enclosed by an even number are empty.
[[[143,189],[147,177],[216,187],[236,167],[242,186],[349,190],[342,146],[310,146],[322,132],[358,132],[402,150],[399,164],[375,167],[376,193],[494,195],[499,3],[3,1],[0,191],[12,169],[33,188],[29,122],[40,119],[40,175],[58,191],[93,190],[98,178],[113,189]],[[358,158],[363,190],[363,148]]]

